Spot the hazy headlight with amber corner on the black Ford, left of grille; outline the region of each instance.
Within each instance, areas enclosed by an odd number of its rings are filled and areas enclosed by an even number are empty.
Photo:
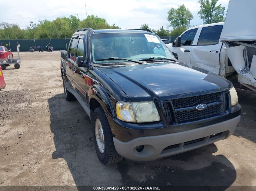
[[[116,103],[118,119],[128,122],[152,122],[159,121],[160,116],[153,101],[147,102],[121,102]]]

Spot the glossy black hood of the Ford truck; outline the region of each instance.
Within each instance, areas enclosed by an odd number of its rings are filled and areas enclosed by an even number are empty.
[[[181,62],[98,68],[130,101],[164,101],[229,90],[228,80]]]

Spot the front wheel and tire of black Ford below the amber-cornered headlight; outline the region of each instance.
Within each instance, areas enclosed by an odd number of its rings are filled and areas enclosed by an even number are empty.
[[[96,133],[98,133],[98,138],[96,138]],[[113,135],[108,123],[108,119],[102,107],[97,107],[94,110],[92,116],[92,135],[96,154],[103,164],[115,164],[123,159],[123,157],[115,150]],[[102,142],[104,142],[103,145]]]

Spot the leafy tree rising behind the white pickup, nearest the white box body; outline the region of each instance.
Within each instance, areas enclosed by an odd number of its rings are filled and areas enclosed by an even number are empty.
[[[199,0],[200,11],[198,14],[201,19],[204,19],[204,24],[218,23],[225,21],[224,13],[225,7],[221,7],[221,4],[216,6],[218,0]]]

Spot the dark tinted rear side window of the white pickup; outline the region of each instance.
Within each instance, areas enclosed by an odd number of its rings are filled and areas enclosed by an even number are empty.
[[[223,25],[203,27],[200,33],[197,45],[214,45],[218,44],[221,36]]]

